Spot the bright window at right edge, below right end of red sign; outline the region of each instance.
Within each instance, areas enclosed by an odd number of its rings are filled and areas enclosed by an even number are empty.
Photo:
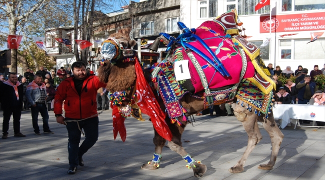
[[[325,38],[319,38],[314,42],[310,38],[294,39],[294,59],[324,59]]]

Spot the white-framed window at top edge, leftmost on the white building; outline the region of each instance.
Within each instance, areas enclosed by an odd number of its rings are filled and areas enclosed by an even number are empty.
[[[199,18],[217,16],[217,0],[198,0]]]

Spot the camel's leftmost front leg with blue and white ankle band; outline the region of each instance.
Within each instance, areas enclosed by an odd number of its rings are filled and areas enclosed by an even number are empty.
[[[154,130],[154,137],[153,137],[153,143],[155,145],[154,147],[154,153],[152,160],[149,161],[148,163],[145,163],[141,166],[141,169],[146,169],[146,170],[154,170],[159,167],[159,162],[161,160],[161,152],[162,152],[162,147],[164,146],[166,140],[162,138],[156,130]]]

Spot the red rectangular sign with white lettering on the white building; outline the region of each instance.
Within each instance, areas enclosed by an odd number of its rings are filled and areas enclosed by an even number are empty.
[[[259,17],[259,32],[325,30],[325,12],[272,15]]]

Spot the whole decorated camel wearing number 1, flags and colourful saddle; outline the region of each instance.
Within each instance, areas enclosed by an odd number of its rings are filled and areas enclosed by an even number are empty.
[[[104,41],[101,53],[105,59],[98,74],[111,92],[114,138],[119,133],[125,140],[124,119],[130,116],[144,120],[141,113],[145,113],[154,127],[155,151],[142,169],[159,167],[168,140],[168,147],[181,155],[194,176],[202,176],[206,166],[185,151],[181,135],[189,123],[187,116],[225,102],[233,102],[234,115],[248,135],[246,150],[229,171],[241,172],[261,140],[257,121],[262,122],[272,144],[269,162],[258,168],[273,168],[283,139],[272,114],[275,83],[259,57],[259,48],[240,35],[241,24],[234,9],[196,29],[178,22],[182,30],[178,37],[160,33],[156,39],[167,44],[166,58],[146,69],[129,48],[134,40],[112,34]]]

